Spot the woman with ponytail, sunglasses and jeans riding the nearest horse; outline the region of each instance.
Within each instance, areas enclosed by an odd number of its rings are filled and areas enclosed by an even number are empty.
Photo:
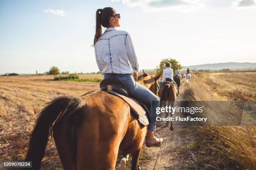
[[[162,138],[156,138],[156,107],[159,98],[138,80],[139,64],[133,48],[131,36],[126,31],[117,30],[120,27],[120,14],[111,7],[97,10],[94,49],[97,65],[105,78],[114,77],[121,80],[128,88],[130,95],[138,100],[151,104],[151,123],[148,125],[146,146],[160,146]],[[102,34],[101,25],[105,28]],[[131,66],[130,66],[131,65]],[[132,68],[132,70],[131,70]],[[132,73],[133,71],[133,73]]]

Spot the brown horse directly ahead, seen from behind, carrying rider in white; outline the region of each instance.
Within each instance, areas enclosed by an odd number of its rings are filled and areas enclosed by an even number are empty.
[[[177,94],[177,88],[172,82],[169,82],[169,81],[163,82],[160,86],[160,91],[159,91],[159,96],[161,101],[160,104],[162,104],[162,107],[165,107],[165,106],[174,107],[176,94]],[[166,102],[163,102],[163,101],[166,101]],[[171,114],[171,117],[172,117],[172,113],[169,113],[169,112],[166,112],[165,117],[168,117],[169,114]],[[169,121],[166,121],[165,125],[169,126]],[[171,131],[174,130],[172,121],[171,121],[170,130]]]

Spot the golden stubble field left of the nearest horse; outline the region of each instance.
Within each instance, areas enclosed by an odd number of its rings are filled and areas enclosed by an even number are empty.
[[[102,78],[101,74],[79,75]],[[53,75],[0,76],[0,162],[22,160],[26,155],[29,135],[40,110],[54,97],[80,96],[99,90],[98,82],[47,81]],[[46,148],[44,167],[61,167],[54,141]]]

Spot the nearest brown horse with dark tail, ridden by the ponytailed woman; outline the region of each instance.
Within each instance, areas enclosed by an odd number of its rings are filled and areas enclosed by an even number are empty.
[[[138,82],[158,92],[157,80],[143,72]],[[64,170],[114,170],[118,155],[132,154],[132,170],[138,161],[147,127],[129,105],[104,91],[80,97],[58,97],[40,113],[31,134],[26,161],[39,170],[49,135],[53,132]]]

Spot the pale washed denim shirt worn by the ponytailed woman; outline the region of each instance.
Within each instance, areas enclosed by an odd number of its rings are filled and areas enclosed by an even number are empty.
[[[139,71],[131,36],[126,31],[107,28],[94,45],[101,73],[128,74]]]

